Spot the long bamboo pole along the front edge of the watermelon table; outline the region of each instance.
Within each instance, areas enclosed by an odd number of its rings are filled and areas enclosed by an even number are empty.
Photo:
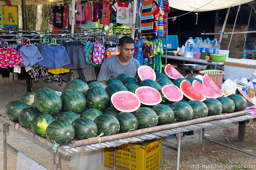
[[[202,122],[207,122],[207,121],[212,121],[212,120],[218,120],[218,119],[224,119],[224,118],[230,118],[230,117],[236,117],[236,116],[241,116],[245,115],[247,111],[238,111],[235,113],[229,113],[226,115],[215,115],[215,116],[208,116],[208,117],[202,117],[199,119],[193,119],[189,121],[184,121],[184,122],[179,122],[179,123],[172,123],[168,125],[161,125],[161,126],[155,126],[155,127],[149,127],[149,128],[144,128],[144,129],[139,129],[131,132],[125,132],[121,134],[115,134],[115,135],[110,135],[110,136],[103,136],[100,137],[101,142],[106,142],[106,141],[111,141],[111,140],[118,140],[122,138],[127,138],[131,136],[136,136],[144,133],[149,133],[149,132],[155,132],[158,130],[167,130],[171,128],[176,128],[176,127],[181,127],[181,126],[186,126],[186,125],[192,125],[195,123],[202,123]],[[225,117],[226,116],[226,117]],[[73,146],[83,146],[83,145],[90,145],[90,144],[95,144],[99,143],[100,140],[99,138],[94,138],[94,139],[84,139],[84,140],[77,140],[73,143]]]

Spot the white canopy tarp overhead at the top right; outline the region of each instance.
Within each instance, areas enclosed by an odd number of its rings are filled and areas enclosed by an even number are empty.
[[[241,3],[241,0],[169,0],[169,6],[183,11],[194,11],[199,8],[196,11],[200,12],[234,7],[251,1],[242,0]]]

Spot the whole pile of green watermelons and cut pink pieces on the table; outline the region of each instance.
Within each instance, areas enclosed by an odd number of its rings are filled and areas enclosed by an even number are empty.
[[[42,88],[11,101],[5,114],[24,128],[60,145],[244,110],[253,101],[242,91],[227,97],[205,74],[185,79],[174,67],[155,73],[148,66],[137,78],[122,73],[106,84],[69,81],[61,96]]]

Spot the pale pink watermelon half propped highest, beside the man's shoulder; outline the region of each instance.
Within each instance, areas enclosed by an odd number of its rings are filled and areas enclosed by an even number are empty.
[[[154,81],[156,80],[156,73],[151,67],[146,65],[140,66],[136,71],[136,75],[140,81],[143,81],[146,79],[151,79]]]

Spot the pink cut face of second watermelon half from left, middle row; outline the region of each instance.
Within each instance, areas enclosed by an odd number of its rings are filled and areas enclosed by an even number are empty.
[[[152,87],[141,86],[135,90],[135,94],[144,105],[158,105],[162,101],[161,94]]]

